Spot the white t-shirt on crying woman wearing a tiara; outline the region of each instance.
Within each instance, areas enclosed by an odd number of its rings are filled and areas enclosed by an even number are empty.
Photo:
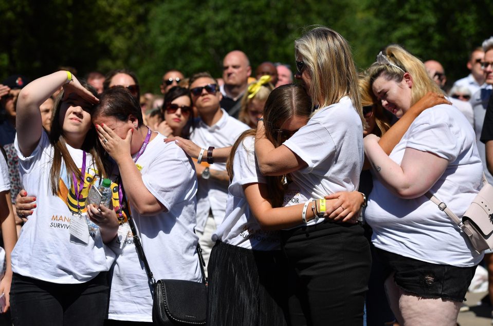
[[[471,125],[450,105],[437,105],[414,120],[390,158],[400,164],[406,148],[431,152],[449,164],[430,192],[461,217],[481,188],[482,165]],[[483,255],[471,252],[467,237],[425,196],[402,199],[377,178],[365,212],[374,245],[430,263],[466,267]]]

